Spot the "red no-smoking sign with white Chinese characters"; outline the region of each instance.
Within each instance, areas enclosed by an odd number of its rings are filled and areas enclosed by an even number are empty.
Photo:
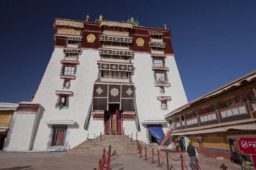
[[[256,155],[256,138],[239,137],[237,142],[241,153],[244,155]]]

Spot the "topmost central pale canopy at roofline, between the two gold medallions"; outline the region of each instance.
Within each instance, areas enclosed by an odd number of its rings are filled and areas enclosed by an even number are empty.
[[[100,28],[103,30],[105,29],[118,29],[118,30],[131,30],[132,29],[132,23],[127,22],[112,22],[112,21],[102,21],[100,23]]]

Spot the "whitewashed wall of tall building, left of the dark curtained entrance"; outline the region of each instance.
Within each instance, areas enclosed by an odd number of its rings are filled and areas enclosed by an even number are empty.
[[[59,110],[59,108],[55,108],[58,99],[55,91],[64,90],[64,80],[60,79],[62,67],[60,60],[63,58],[63,48],[55,48],[33,100],[33,102],[40,103],[43,106],[43,110],[45,110],[41,115],[42,119],[36,134],[34,150],[47,148],[51,129],[44,122],[49,120],[73,120],[77,122],[79,127],[70,127],[69,130],[68,145],[70,144],[70,148],[86,140],[87,133],[89,133],[89,138],[93,138],[94,133],[98,136],[101,131],[102,133],[104,132],[104,121],[93,121],[92,117],[88,131],[84,130],[84,122],[93,95],[93,83],[98,77],[96,61],[100,59],[99,51],[83,50],[79,55],[76,80],[71,80],[70,89],[66,90],[73,91],[74,95],[70,96],[69,108]]]

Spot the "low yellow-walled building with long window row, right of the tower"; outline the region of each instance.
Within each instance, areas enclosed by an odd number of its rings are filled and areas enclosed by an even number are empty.
[[[186,147],[189,140],[198,154],[238,161],[244,157],[239,137],[256,137],[256,71],[177,108],[165,119],[173,130],[171,140],[181,138]]]

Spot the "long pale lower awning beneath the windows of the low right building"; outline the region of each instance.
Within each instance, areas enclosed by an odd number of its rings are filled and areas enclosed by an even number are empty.
[[[175,131],[172,133],[171,136],[183,136],[183,135],[193,135],[193,134],[202,134],[202,133],[215,133],[215,132],[226,132],[229,129],[236,129],[236,130],[256,130],[256,124],[252,125],[233,125],[233,126],[226,126],[226,127],[218,127],[218,128],[211,128],[211,129],[204,129],[204,130],[193,130],[193,131],[186,131],[186,132],[177,132]]]

